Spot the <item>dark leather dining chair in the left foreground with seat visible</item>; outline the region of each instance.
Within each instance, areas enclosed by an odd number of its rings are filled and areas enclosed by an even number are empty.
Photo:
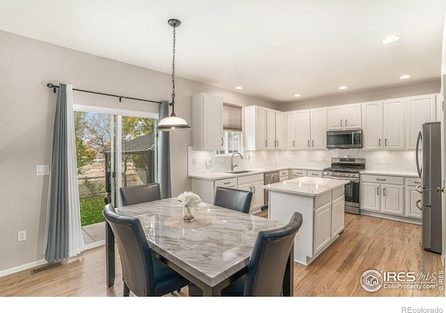
[[[123,269],[123,296],[163,296],[187,286],[189,281],[151,254],[138,218],[121,216],[112,204],[104,207],[112,227]]]

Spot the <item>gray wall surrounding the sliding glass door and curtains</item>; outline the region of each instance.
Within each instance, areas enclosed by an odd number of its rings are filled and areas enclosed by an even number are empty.
[[[57,94],[48,82],[155,101],[170,100],[171,75],[111,61],[0,31],[0,274],[44,259],[48,177],[36,165],[49,164]],[[224,102],[275,104],[176,77],[177,115],[192,122],[192,95],[210,93]],[[75,104],[157,112],[157,104],[73,92]],[[192,131],[171,134],[172,194],[190,191],[187,146]],[[17,242],[17,231],[26,241]]]

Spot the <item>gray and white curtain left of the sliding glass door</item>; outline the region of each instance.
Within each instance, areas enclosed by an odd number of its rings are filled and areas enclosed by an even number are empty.
[[[54,118],[51,184],[49,186],[47,262],[68,257],[68,161],[67,151],[67,92],[61,84]]]

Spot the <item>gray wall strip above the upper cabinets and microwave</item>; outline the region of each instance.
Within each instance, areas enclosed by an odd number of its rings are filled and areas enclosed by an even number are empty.
[[[281,111],[293,111],[318,108],[320,106],[337,106],[341,104],[410,97],[413,95],[429,95],[431,93],[440,93],[440,85],[441,81],[440,77],[438,77],[438,79],[433,81],[424,81],[422,83],[413,83],[405,86],[363,90],[355,93],[342,90],[339,91],[339,93],[341,93],[339,95],[328,95],[326,97],[317,97],[307,100],[302,99],[298,102],[282,103],[278,105],[278,108]]]

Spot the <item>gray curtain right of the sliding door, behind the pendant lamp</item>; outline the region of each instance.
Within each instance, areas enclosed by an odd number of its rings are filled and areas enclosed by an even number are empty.
[[[169,116],[169,102],[162,101],[159,109],[160,120]],[[158,131],[159,136],[159,155],[158,158],[158,182],[161,187],[161,197],[171,198],[172,187],[170,180],[170,146],[169,146],[169,131]]]

